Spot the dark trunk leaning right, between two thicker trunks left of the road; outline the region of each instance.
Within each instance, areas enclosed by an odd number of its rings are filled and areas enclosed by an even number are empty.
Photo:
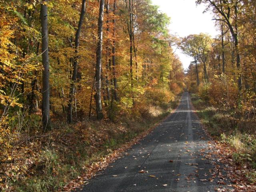
[[[80,13],[80,18],[78,22],[78,28],[76,30],[76,39],[75,39],[75,57],[73,62],[73,72],[72,72],[72,82],[70,84],[70,95],[69,95],[69,103],[68,103],[68,122],[73,122],[73,101],[75,96],[75,90],[76,90],[76,81],[77,81],[77,68],[78,68],[78,48],[79,48],[79,39],[80,39],[80,33],[82,30],[82,23],[84,20],[84,14],[86,10],[86,0],[82,0],[82,8]]]

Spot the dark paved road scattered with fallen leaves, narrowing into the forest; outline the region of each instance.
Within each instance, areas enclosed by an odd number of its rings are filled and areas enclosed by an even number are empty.
[[[116,160],[83,192],[212,192],[214,159],[206,159],[207,136],[192,112],[190,96],[123,158]],[[170,162],[171,160],[171,162]],[[141,170],[145,173],[139,173]],[[209,171],[210,170],[210,171]],[[167,186],[163,186],[167,184]]]

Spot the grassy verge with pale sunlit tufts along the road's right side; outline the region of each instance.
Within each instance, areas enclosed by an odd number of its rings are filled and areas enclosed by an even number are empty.
[[[197,94],[191,94],[191,101],[208,132],[216,140],[234,149],[232,159],[238,165],[249,165],[246,173],[251,183],[256,182],[256,122],[238,118],[232,112],[209,106]]]

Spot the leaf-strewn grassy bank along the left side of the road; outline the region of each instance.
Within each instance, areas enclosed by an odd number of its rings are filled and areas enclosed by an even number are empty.
[[[73,126],[59,122],[59,126],[47,134],[31,134],[29,130],[30,136],[24,134],[18,141],[11,160],[0,162],[2,191],[60,190],[86,172],[88,165],[154,126],[176,106],[178,98],[156,107],[157,113],[148,110],[140,118],[122,116],[119,122],[84,121]]]

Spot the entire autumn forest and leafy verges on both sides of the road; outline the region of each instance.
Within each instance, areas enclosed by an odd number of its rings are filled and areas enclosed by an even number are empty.
[[[0,190],[83,186],[189,92],[238,170],[230,186],[254,191],[256,2],[196,4],[213,13],[218,36],[171,34],[151,0],[0,0]]]

